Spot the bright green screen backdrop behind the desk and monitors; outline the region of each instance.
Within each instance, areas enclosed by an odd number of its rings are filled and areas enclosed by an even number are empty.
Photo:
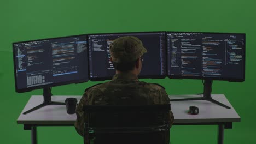
[[[241,122],[225,129],[224,143],[256,143],[255,39],[256,2],[195,1],[0,1],[0,141],[30,143],[30,131],[16,120],[31,95],[42,89],[16,93],[12,43],[86,33],[187,31],[246,33],[246,81],[214,81],[213,94],[225,94]],[[203,91],[201,80],[144,79],[159,83],[168,94]],[[54,95],[82,95],[98,82],[53,88]],[[184,107],[184,110],[188,107]],[[217,143],[216,125],[173,126],[172,143]],[[83,143],[74,127],[38,127],[38,143]]]

